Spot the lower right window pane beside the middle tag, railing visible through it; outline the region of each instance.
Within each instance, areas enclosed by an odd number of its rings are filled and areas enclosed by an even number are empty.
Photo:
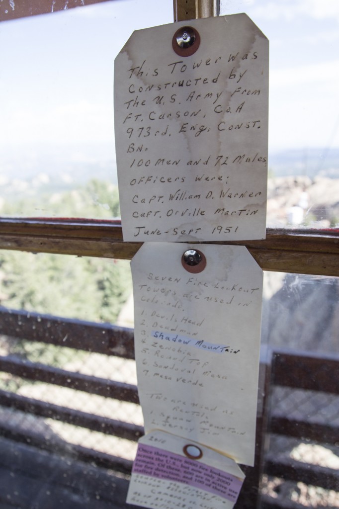
[[[333,507],[339,500],[339,278],[267,272],[264,282],[262,362],[269,385],[264,389],[262,379],[262,501]]]

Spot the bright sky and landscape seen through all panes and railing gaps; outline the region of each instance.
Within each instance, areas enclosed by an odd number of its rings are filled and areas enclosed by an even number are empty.
[[[221,14],[238,12],[246,12],[270,40],[267,226],[338,228],[339,2],[222,0]],[[120,216],[114,59],[134,30],[172,21],[172,0],[114,0],[0,23],[0,216]],[[337,355],[338,297],[337,278],[266,272],[263,351]],[[132,327],[129,263],[3,250],[0,306],[23,310],[27,317],[37,313],[37,322],[40,314],[49,314]],[[3,335],[0,355],[136,383],[135,363],[112,356]],[[143,422],[136,405],[67,387],[1,373],[0,389]],[[273,410],[331,426],[339,421],[334,396],[278,394]],[[129,459],[135,454],[135,444],[53,419],[30,420],[6,410],[0,425],[8,422],[23,433],[36,429],[46,440],[58,437]],[[339,468],[337,448],[328,444],[296,439],[272,447],[288,462]],[[339,506],[333,490],[312,487],[311,493],[305,485],[285,483],[284,492],[283,480],[264,481],[273,498],[281,492],[303,506]]]

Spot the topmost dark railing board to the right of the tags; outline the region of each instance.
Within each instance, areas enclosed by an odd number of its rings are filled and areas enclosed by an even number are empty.
[[[339,357],[274,352],[272,384],[339,394]]]

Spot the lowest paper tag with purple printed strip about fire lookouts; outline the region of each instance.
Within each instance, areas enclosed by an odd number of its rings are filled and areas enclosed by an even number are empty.
[[[127,502],[154,509],[232,509],[243,479],[232,459],[156,431],[139,440]]]

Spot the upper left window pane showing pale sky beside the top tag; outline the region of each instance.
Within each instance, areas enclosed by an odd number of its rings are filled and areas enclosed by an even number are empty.
[[[120,215],[114,59],[171,21],[172,2],[115,0],[1,23],[0,215]]]

